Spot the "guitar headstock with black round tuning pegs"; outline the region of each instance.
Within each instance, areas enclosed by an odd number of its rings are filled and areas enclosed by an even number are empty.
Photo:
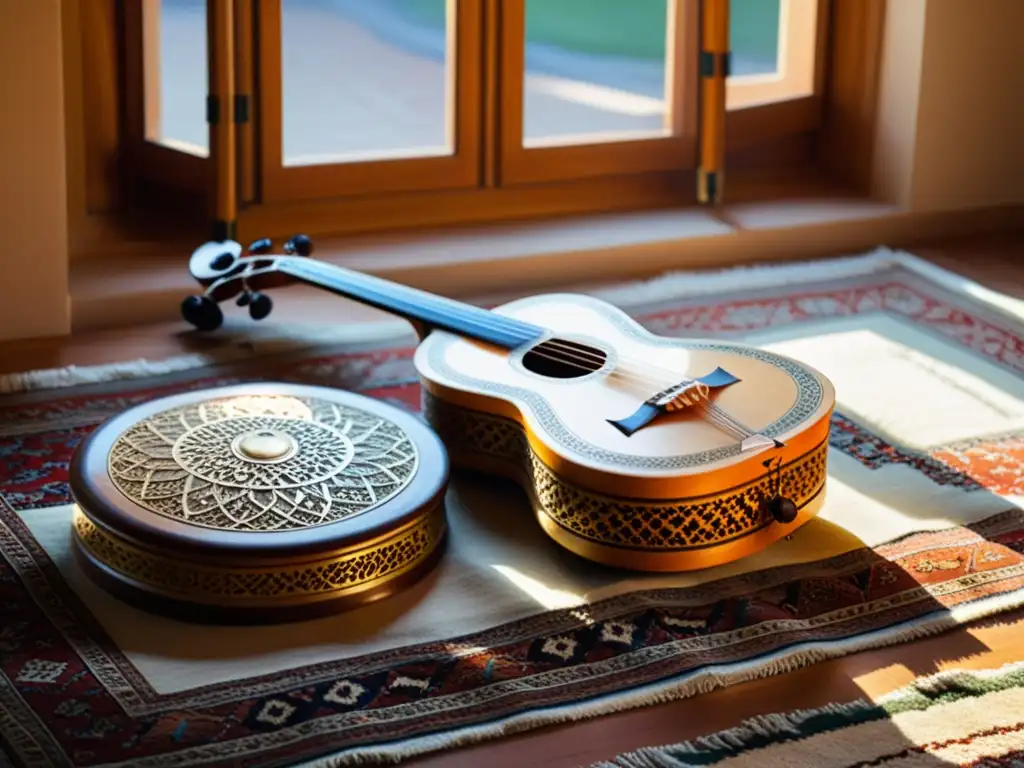
[[[284,244],[283,254],[273,254],[273,242],[262,238],[243,248],[233,240],[204,243],[188,260],[188,271],[206,289],[181,302],[181,316],[200,331],[214,331],[224,322],[218,304],[236,299],[248,306],[253,319],[263,319],[273,302],[263,291],[290,285],[295,281],[280,271],[275,260],[282,256],[309,256],[313,243],[305,234],[296,234]]]

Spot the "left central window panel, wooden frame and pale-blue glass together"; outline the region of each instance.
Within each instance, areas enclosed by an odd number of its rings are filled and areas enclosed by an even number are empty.
[[[260,0],[267,203],[472,186],[478,0]]]

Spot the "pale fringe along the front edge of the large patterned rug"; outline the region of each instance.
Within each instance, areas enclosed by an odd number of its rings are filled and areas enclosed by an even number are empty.
[[[706,668],[671,681],[624,693],[601,696],[590,701],[523,713],[485,725],[471,726],[392,744],[358,748],[300,765],[301,768],[347,768],[347,766],[358,765],[397,764],[428,753],[477,744],[543,726],[590,720],[603,715],[710,693],[719,688],[782,675],[851,653],[891,647],[911,640],[939,635],[969,622],[1020,607],[1024,607],[1024,590],[957,606],[950,611],[923,616],[898,628],[879,630],[867,635],[835,642],[809,643],[783,649],[771,656],[759,659],[760,663],[744,662]]]

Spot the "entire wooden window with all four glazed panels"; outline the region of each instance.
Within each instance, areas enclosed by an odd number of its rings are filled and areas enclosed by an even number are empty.
[[[701,166],[815,162],[833,22],[883,1],[74,0],[90,211],[276,236],[695,203]]]

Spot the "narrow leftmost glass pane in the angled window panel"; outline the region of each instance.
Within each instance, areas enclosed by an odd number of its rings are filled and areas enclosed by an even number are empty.
[[[145,137],[208,157],[206,0],[142,2]]]

